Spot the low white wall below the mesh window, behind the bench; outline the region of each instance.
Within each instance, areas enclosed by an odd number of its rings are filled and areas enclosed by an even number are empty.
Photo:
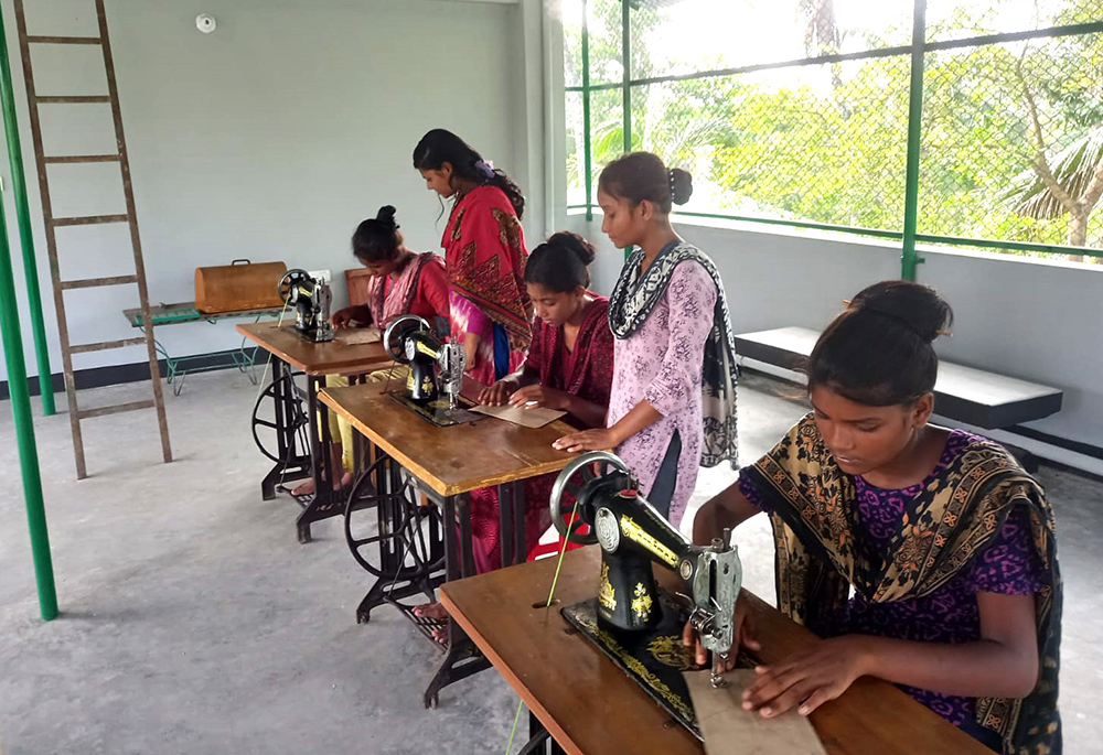
[[[608,293],[623,256],[601,234],[600,216],[563,223],[599,245],[596,285]],[[888,242],[715,220],[678,223],[677,230],[715,260],[737,332],[822,328],[844,299],[900,276],[899,246]],[[953,337],[938,341],[940,355],[1062,389],[1063,409],[1028,427],[1103,446],[1103,266],[922,252],[919,280],[935,287],[956,315]]]

